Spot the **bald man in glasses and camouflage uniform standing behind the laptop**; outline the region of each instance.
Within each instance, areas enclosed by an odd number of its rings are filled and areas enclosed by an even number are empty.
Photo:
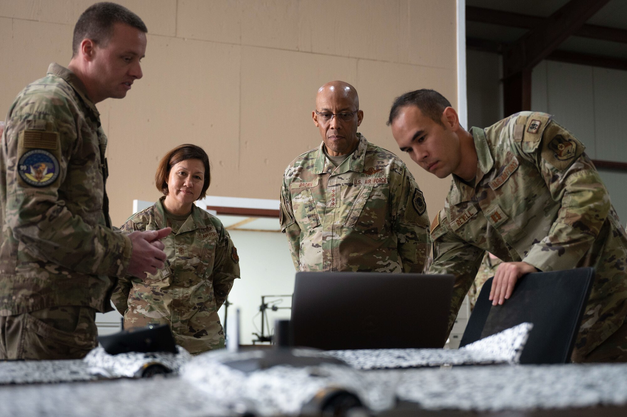
[[[285,170],[281,229],[301,271],[422,272],[430,241],[423,193],[396,155],[357,133],[355,88],[320,88],[320,147]]]

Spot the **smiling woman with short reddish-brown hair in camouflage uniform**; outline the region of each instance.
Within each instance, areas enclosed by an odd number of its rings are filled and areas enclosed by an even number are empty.
[[[169,324],[176,343],[192,354],[224,347],[218,309],[240,277],[228,232],[218,218],[194,205],[204,198],[210,180],[203,148],[186,144],[166,153],[155,175],[164,197],[132,215],[122,230],[172,227],[163,239],[167,261],[146,279],[120,279],[112,296],[125,329]]]

